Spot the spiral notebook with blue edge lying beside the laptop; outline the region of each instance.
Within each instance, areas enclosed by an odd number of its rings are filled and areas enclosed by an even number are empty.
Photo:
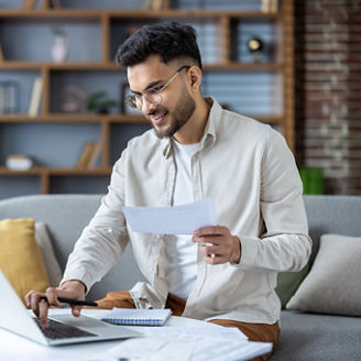
[[[101,320],[113,325],[163,326],[171,315],[172,310],[168,308],[133,309],[114,307]]]

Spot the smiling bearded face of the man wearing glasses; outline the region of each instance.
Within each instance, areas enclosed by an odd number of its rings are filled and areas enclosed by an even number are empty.
[[[128,80],[132,92],[146,94],[160,89],[178,70],[179,64],[164,64],[160,56],[152,55],[145,62],[128,68]],[[169,138],[178,132],[193,116],[196,102],[186,86],[186,72],[183,69],[161,92],[162,101],[154,105],[141,97],[140,110],[149,119],[158,138]]]

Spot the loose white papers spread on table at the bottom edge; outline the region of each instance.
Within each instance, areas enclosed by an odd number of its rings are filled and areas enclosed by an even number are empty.
[[[272,351],[272,343],[251,342],[237,328],[145,328],[144,337],[121,341],[91,361],[247,361]]]

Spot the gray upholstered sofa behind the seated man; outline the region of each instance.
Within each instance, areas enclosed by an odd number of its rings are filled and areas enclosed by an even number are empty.
[[[64,270],[67,256],[81,229],[98,208],[100,195],[25,196],[0,201],[0,219],[31,217],[45,222]],[[361,197],[305,196],[311,261],[324,233],[361,236]],[[332,262],[332,260],[330,260]],[[109,291],[129,289],[143,280],[128,248],[120,262],[96,284],[89,298],[101,298]],[[272,361],[361,360],[361,318],[283,310],[281,339]]]

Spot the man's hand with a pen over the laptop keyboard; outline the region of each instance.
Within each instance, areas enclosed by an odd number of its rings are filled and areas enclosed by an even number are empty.
[[[67,281],[64,282],[59,287],[48,287],[46,293],[40,293],[31,291],[25,296],[25,304],[32,308],[33,313],[39,317],[44,328],[48,327],[47,322],[47,310],[50,306],[62,307],[62,303],[58,302],[57,297],[66,297],[74,299],[85,299],[86,286],[80,281]],[[41,299],[42,296],[46,296],[45,299]],[[72,311],[75,317],[80,316],[81,306],[72,306]]]

